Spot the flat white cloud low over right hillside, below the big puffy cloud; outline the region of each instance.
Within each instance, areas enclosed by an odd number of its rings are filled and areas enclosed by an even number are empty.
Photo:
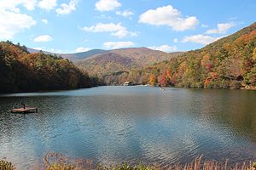
[[[182,42],[196,42],[196,43],[201,43],[203,45],[207,45],[211,42],[218,40],[219,38],[221,37],[210,37],[210,36],[198,34],[198,35],[184,37]]]

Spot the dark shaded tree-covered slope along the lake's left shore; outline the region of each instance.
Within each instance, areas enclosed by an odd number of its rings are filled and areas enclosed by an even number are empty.
[[[38,53],[26,46],[0,42],[0,93],[90,88],[97,80],[68,59]]]

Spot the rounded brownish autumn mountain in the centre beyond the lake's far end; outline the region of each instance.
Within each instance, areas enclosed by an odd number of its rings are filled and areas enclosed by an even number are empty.
[[[118,72],[130,71],[142,68],[146,65],[171,59],[183,53],[167,54],[162,51],[149,48],[121,48],[110,50],[103,54],[95,54],[82,59],[76,65],[88,71],[90,75],[106,76]]]

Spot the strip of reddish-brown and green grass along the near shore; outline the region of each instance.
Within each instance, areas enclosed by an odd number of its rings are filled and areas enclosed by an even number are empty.
[[[75,160],[71,161],[67,156],[47,153],[44,156],[43,165],[35,165],[34,170],[256,170],[256,163],[249,161],[241,165],[229,165],[228,161],[202,161],[201,157],[195,158],[194,161],[184,165],[175,164],[166,167],[150,166],[150,165],[129,165],[122,163],[118,165],[94,165],[91,160]],[[0,170],[15,170],[15,166],[9,161],[0,161]]]

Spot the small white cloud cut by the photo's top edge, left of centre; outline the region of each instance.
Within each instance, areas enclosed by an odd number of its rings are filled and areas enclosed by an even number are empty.
[[[121,5],[118,0],[100,0],[95,4],[96,10],[101,12],[114,10]]]

